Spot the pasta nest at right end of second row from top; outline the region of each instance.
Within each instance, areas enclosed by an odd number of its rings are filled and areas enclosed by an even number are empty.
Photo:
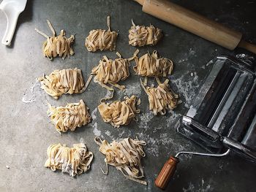
[[[157,50],[146,53],[140,58],[135,55],[136,65],[133,67],[136,74],[143,77],[167,77],[173,72],[173,61],[168,58],[159,58]]]

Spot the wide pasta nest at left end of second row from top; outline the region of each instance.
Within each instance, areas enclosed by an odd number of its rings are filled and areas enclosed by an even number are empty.
[[[80,69],[55,70],[50,75],[37,78],[41,88],[54,99],[59,99],[62,94],[83,93],[86,86]]]

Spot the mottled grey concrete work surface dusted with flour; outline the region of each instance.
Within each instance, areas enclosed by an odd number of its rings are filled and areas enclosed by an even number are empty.
[[[256,1],[174,2],[241,31],[245,39],[256,43]],[[132,66],[131,76],[121,82],[127,86],[127,90],[116,91],[115,99],[135,94],[142,101],[141,113],[138,122],[118,129],[104,123],[99,116],[97,105],[107,91],[96,83],[91,82],[85,93],[64,95],[58,101],[39,88],[36,78],[44,73],[50,74],[54,69],[78,67],[86,79],[102,55],[116,58],[115,52],[89,53],[84,47],[85,37],[91,29],[107,28],[107,15],[111,16],[113,30],[118,31],[117,50],[124,58],[130,57],[135,51],[135,47],[128,45],[132,18],[137,24],[151,23],[162,28],[165,34],[162,41],[154,47],[140,48],[140,55],[148,50],[158,50],[160,55],[173,60],[175,68],[170,76],[170,85],[182,101],[176,110],[165,116],[152,115],[148,111],[147,96],[140,87],[139,77],[132,72]],[[67,36],[76,34],[74,56],[53,61],[43,57],[41,47],[45,39],[34,28],[50,34],[47,19],[53,23],[56,31],[65,29]],[[4,35],[6,23],[4,13],[0,12],[0,37]],[[223,53],[235,55],[246,51],[225,50],[182,31],[143,13],[140,5],[132,0],[28,1],[25,12],[18,20],[12,46],[0,46],[0,191],[159,191],[154,186],[154,179],[169,155],[174,155],[178,150],[203,151],[176,133],[174,125],[180,115],[187,111],[210,69],[207,62]],[[94,120],[74,132],[59,134],[46,114],[46,101],[60,106],[79,99],[86,101]],[[113,167],[110,167],[108,175],[102,174],[99,167],[105,167],[104,155],[99,153],[94,143],[95,136],[109,142],[125,137],[144,139],[147,145],[143,167],[148,185],[125,179]],[[46,169],[47,147],[59,142],[69,146],[85,142],[94,153],[90,171],[72,178],[68,174]],[[183,156],[167,191],[255,191],[255,176],[255,164],[237,155],[231,154],[225,158]]]

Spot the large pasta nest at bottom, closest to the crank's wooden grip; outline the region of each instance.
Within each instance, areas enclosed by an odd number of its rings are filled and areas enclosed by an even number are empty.
[[[120,142],[113,141],[110,144],[106,141],[95,137],[94,141],[99,145],[99,151],[106,155],[104,161],[108,174],[108,165],[115,166],[129,180],[134,180],[140,184],[147,185],[146,181],[141,180],[144,177],[143,167],[140,159],[145,157],[143,145],[146,142],[138,139],[126,138]]]

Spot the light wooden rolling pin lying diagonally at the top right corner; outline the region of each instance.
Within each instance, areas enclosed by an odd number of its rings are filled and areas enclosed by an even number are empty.
[[[153,15],[156,18],[165,20],[186,31],[196,34],[199,37],[211,42],[234,50],[242,47],[256,54],[256,45],[244,41],[242,34],[221,24],[204,18],[195,12],[189,11],[184,7],[173,4],[167,0],[134,0],[143,6],[143,12]]]

